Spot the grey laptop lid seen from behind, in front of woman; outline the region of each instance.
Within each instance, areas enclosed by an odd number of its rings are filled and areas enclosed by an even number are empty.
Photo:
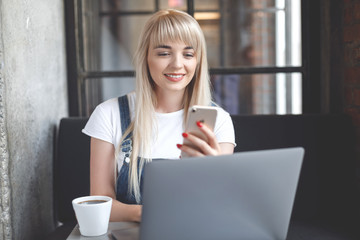
[[[303,148],[154,161],[141,240],[286,239]]]

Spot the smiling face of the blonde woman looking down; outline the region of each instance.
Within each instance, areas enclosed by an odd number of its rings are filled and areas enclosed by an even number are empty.
[[[183,42],[150,44],[147,62],[157,93],[184,92],[197,65],[193,47]]]

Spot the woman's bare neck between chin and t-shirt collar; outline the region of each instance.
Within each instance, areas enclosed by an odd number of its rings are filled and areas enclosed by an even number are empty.
[[[155,111],[158,113],[171,113],[184,108],[184,92],[156,93],[157,106]]]

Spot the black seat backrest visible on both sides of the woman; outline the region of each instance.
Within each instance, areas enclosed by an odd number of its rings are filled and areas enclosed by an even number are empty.
[[[345,115],[232,116],[237,147],[250,151],[301,146],[305,157],[293,219],[351,219],[356,211],[355,135]],[[60,122],[55,175],[55,215],[74,221],[72,199],[89,194],[87,118]]]

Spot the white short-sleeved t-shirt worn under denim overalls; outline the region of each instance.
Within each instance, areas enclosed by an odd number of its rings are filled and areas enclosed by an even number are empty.
[[[128,94],[131,119],[134,116],[135,92]],[[229,113],[218,108],[214,133],[219,143],[232,143],[235,145],[234,126]],[[158,134],[153,137],[151,158],[179,159],[180,150],[176,144],[182,144],[184,110],[172,113],[155,113],[158,123]],[[117,98],[112,98],[99,104],[91,114],[83,133],[114,145],[115,149],[120,144],[122,137],[119,103]],[[121,152],[121,151],[120,151]],[[124,160],[123,153],[117,159],[118,169]]]

